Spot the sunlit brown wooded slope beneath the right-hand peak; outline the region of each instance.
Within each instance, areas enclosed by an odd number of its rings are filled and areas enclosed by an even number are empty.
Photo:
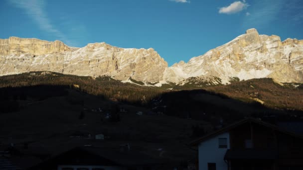
[[[264,101],[264,105],[272,108],[303,110],[303,89],[292,85],[282,86],[272,79],[252,79],[205,89],[246,102],[259,99]]]

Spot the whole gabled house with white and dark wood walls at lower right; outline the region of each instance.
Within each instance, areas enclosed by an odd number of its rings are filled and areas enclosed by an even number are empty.
[[[303,136],[247,118],[193,141],[199,170],[303,170]]]

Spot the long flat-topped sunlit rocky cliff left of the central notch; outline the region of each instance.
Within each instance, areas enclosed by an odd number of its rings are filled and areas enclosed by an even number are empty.
[[[150,49],[124,49],[106,43],[70,48],[60,41],[10,37],[0,40],[0,75],[52,71],[79,76],[111,76],[159,82],[167,63]]]

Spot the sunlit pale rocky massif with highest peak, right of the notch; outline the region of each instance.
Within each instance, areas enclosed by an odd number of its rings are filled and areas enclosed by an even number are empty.
[[[234,77],[240,80],[273,78],[280,82],[303,83],[303,40],[259,35],[256,29],[212,49],[188,63],[167,68],[164,79],[186,83],[190,77],[220,78],[223,84]]]

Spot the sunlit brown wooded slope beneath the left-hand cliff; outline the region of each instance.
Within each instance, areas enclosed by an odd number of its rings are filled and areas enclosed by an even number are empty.
[[[94,79],[52,72],[32,72],[0,77],[0,88],[33,85],[70,85],[71,87],[77,85],[81,91],[101,95],[106,99],[114,98],[131,103],[146,103],[163,91],[156,87],[121,83],[110,77]]]

